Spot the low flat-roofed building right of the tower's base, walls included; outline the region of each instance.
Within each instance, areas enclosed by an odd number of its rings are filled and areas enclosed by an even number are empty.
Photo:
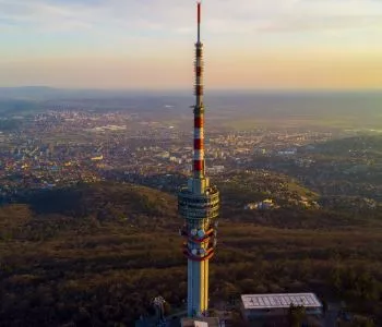
[[[253,326],[284,326],[289,322],[290,307],[303,306],[307,318],[320,326],[322,303],[314,293],[243,294],[241,313]],[[276,325],[274,325],[276,324]]]

